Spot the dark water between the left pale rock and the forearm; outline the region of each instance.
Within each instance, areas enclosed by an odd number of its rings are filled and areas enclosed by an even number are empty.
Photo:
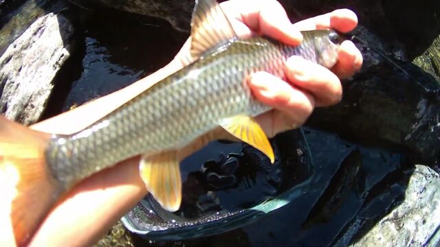
[[[103,9],[79,10],[78,49],[56,76],[43,118],[107,95],[173,59],[188,37],[168,23]]]

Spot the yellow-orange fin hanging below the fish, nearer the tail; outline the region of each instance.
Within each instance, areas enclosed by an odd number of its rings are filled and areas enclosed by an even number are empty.
[[[146,189],[163,209],[177,211],[181,203],[181,176],[177,152],[142,156],[140,176]]]

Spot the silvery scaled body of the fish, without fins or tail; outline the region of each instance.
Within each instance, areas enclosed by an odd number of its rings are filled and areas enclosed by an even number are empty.
[[[270,108],[254,99],[245,83],[248,75],[267,71],[283,78],[283,63],[292,55],[322,64],[322,49],[316,46],[329,47],[328,34],[303,32],[298,47],[258,37],[213,49],[89,128],[54,137],[47,163],[54,177],[69,186],[131,156],[182,148],[219,126],[221,119],[259,115]]]

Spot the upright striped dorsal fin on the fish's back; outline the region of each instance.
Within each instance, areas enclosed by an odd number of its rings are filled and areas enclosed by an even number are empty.
[[[196,0],[191,21],[191,56],[200,56],[236,37],[216,0]]]

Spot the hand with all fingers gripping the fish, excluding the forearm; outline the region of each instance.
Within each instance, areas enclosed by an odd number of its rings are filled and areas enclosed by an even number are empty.
[[[289,45],[298,45],[301,42],[303,37],[299,30],[331,28],[339,32],[349,32],[358,24],[355,13],[347,9],[292,24],[278,1],[252,1],[252,5],[246,1],[226,1],[221,3],[221,8],[240,38],[265,35]],[[190,39],[170,64],[178,69],[184,67],[189,54]],[[266,72],[254,73],[249,84],[252,92],[261,102],[274,108],[257,117],[257,121],[269,137],[300,127],[315,106],[338,103],[342,97],[339,78],[350,77],[361,66],[362,54],[350,40],[345,40],[338,51],[338,62],[331,69],[294,56],[285,63],[287,81]],[[217,135],[231,138],[220,130]]]

